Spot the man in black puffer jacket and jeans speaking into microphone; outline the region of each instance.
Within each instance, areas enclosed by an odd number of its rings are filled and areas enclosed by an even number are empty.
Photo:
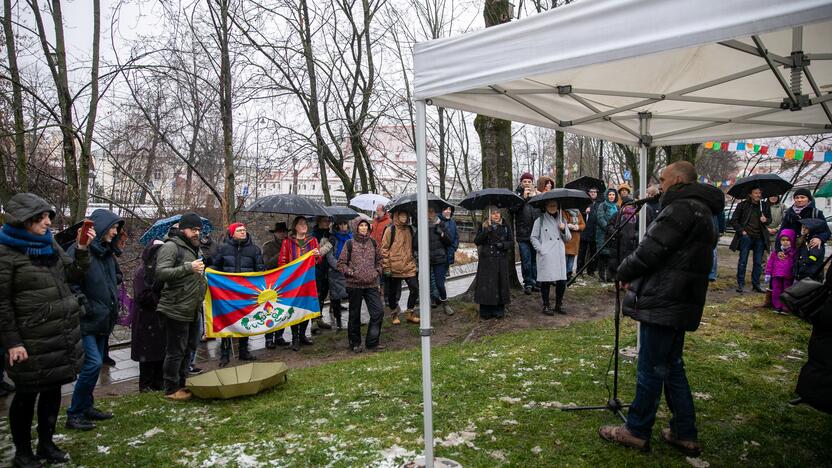
[[[624,315],[641,322],[636,396],[624,425],[598,431],[611,442],[649,450],[664,390],[673,416],[662,439],[688,456],[698,456],[701,446],[682,350],[685,332],[702,318],[718,240],[712,219],[725,207],[721,190],[696,179],[686,161],[662,171],[659,215],[618,268],[616,279],[627,289]]]

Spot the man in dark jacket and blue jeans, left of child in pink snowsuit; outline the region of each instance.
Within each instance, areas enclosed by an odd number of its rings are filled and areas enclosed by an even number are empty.
[[[762,202],[763,191],[753,188],[748,197],[737,205],[731,216],[734,227],[734,239],[730,249],[739,251],[737,262],[737,292],[742,293],[745,288],[745,270],[748,265],[748,254],[753,252],[751,268],[751,288],[754,292],[764,292],[760,287],[760,274],[763,271],[763,252],[768,250],[769,218],[765,216]]]

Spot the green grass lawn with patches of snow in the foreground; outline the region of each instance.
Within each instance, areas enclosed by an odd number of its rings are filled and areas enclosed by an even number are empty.
[[[832,417],[791,398],[809,326],[756,309],[759,295],[709,305],[688,334],[685,358],[705,453],[664,444],[641,454],[603,442],[609,412],[562,412],[602,404],[612,385],[613,322],[508,333],[434,349],[436,453],[465,466],[830,466]],[[635,341],[623,321],[622,345]],[[397,466],[421,453],[418,350],[367,354],[291,371],[289,382],[232,401],[170,403],[159,394],[99,400],[116,418],[58,444],[84,466]],[[623,362],[621,396],[635,369]],[[7,422],[0,444],[10,450]]]

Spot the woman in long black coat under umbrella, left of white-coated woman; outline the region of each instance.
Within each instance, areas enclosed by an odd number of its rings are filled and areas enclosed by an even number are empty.
[[[488,219],[483,221],[474,239],[479,248],[474,302],[480,305],[483,320],[505,317],[506,304],[511,302],[506,253],[514,249],[514,236],[503,221],[502,210],[493,206],[488,211]]]

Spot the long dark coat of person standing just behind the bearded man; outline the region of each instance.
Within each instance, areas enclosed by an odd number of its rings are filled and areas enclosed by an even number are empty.
[[[142,252],[142,266],[133,274],[135,315],[131,326],[130,359],[158,362],[165,359],[164,322],[156,306],[162,297],[162,283],[153,281],[156,253],[162,244],[151,243]]]

